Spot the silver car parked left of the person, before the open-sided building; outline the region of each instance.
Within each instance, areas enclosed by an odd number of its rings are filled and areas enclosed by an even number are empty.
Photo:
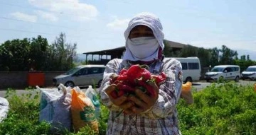
[[[100,86],[102,83],[104,65],[81,65],[70,69],[65,74],[55,76],[53,85],[63,83],[65,86]]]

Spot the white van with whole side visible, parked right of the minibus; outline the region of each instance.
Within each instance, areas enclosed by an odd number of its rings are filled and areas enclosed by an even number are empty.
[[[213,69],[206,72],[204,76],[206,81],[218,80],[223,78],[224,80],[235,80],[236,82],[240,79],[240,66],[238,65],[218,65],[214,66]]]

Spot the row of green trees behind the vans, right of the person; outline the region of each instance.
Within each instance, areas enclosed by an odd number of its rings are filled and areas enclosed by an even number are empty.
[[[185,45],[183,49],[174,51],[169,45],[166,45],[166,42],[164,44],[164,55],[166,57],[198,57],[202,68],[222,64],[235,64],[240,66],[241,71],[244,71],[247,66],[256,65],[256,61],[252,61],[249,55],[242,55],[239,59],[238,52],[225,45],[221,49],[217,47],[205,49],[203,47]]]

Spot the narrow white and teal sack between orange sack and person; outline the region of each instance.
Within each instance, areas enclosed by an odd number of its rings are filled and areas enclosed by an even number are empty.
[[[100,100],[97,98],[96,91],[89,86],[87,90],[85,90],[85,95],[92,100],[92,104],[95,106],[95,117],[97,119],[100,118]]]

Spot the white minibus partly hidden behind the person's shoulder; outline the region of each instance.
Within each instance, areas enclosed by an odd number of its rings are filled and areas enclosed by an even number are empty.
[[[181,61],[183,81],[199,81],[201,77],[201,64],[198,57],[172,57]]]

